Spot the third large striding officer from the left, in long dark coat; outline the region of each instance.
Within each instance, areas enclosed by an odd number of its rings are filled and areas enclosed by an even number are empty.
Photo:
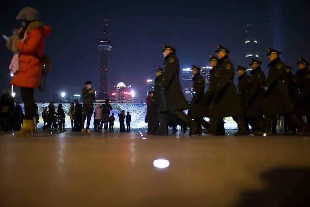
[[[288,117],[289,123],[298,129],[297,135],[304,134],[304,127],[300,119],[294,113],[293,106],[291,104],[289,91],[286,80],[285,64],[280,59],[281,52],[269,48],[267,53],[269,63],[268,77],[265,80],[264,85],[268,86],[264,100],[264,129],[263,132],[258,132],[257,135],[271,135],[271,121],[277,114],[284,114]]]

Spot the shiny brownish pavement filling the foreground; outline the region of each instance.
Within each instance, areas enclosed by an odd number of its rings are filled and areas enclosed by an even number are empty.
[[[0,207],[310,206],[308,137],[141,133],[0,134]]]

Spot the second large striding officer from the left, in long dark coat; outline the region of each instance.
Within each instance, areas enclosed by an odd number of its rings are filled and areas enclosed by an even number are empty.
[[[212,104],[210,129],[204,129],[203,132],[214,135],[217,131],[217,125],[224,117],[230,117],[238,125],[236,136],[247,135],[245,121],[241,106],[239,104],[236,86],[233,83],[234,67],[228,59],[229,50],[221,45],[217,46],[218,70],[215,71],[217,84],[209,87],[208,96],[214,94],[215,101]]]

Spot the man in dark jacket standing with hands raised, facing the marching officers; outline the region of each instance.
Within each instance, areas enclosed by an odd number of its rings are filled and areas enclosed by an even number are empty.
[[[90,131],[89,126],[94,111],[93,102],[96,99],[95,90],[92,89],[93,84],[91,81],[86,81],[85,86],[86,87],[82,89],[82,98],[83,98],[82,132],[92,132]],[[87,124],[85,130],[84,125],[86,118],[87,118]]]

